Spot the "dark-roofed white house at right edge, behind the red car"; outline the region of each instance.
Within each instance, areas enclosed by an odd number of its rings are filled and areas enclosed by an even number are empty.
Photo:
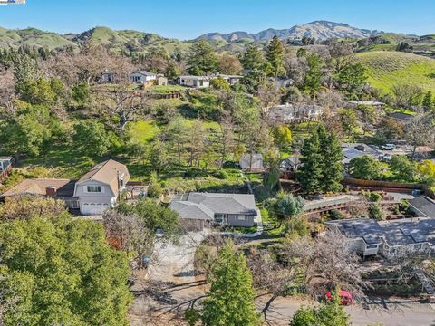
[[[348,245],[362,256],[430,254],[435,248],[435,219],[412,218],[378,222],[353,218],[325,223],[328,230],[347,238]],[[327,235],[333,236],[333,235]]]

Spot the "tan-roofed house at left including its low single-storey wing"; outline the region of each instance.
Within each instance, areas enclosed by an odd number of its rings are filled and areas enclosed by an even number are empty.
[[[116,206],[130,180],[127,167],[112,159],[95,166],[78,181],[69,179],[26,179],[1,197],[53,197],[82,215],[102,215]]]

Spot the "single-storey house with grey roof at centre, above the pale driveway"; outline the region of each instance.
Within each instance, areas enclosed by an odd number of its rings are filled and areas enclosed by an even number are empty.
[[[257,210],[254,195],[189,193],[176,196],[170,208],[185,225],[253,226]]]

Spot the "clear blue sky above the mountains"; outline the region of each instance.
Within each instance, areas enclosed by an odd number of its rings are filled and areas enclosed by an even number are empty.
[[[27,0],[0,5],[0,26],[79,33],[96,25],[191,39],[329,20],[407,34],[435,33],[435,0]]]

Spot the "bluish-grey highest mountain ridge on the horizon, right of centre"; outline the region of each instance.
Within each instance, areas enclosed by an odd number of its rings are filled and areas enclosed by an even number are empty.
[[[333,23],[328,21],[314,21],[308,24],[295,25],[290,29],[266,29],[257,34],[247,32],[233,32],[228,34],[208,33],[199,36],[197,40],[236,42],[242,39],[267,41],[277,35],[280,39],[314,37],[316,40],[330,38],[365,38],[372,34],[382,34],[377,30],[367,30],[353,27],[349,24]]]

